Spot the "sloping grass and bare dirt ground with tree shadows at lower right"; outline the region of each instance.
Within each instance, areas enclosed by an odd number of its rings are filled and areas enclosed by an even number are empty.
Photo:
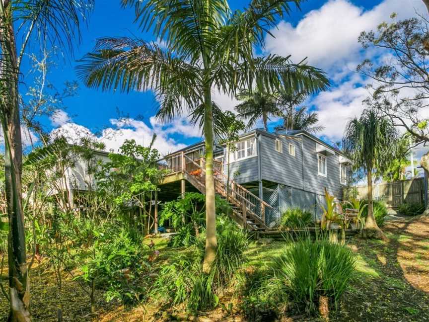
[[[361,274],[333,321],[429,321],[429,217],[389,221],[387,242],[355,240]]]

